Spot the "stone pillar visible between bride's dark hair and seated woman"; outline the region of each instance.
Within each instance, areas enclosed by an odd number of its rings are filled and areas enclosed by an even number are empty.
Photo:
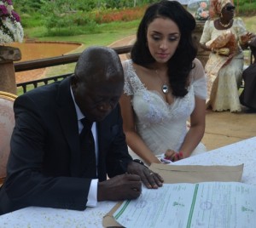
[[[201,48],[199,42],[201,39],[201,34],[204,29],[205,21],[196,21],[195,31],[192,34],[192,37],[198,47],[197,58],[201,60],[202,65],[205,67],[207,64],[207,60],[209,58],[210,51],[206,51]]]

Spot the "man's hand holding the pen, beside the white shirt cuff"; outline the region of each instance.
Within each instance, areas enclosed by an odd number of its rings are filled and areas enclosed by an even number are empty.
[[[98,201],[136,199],[142,193],[142,181],[138,175],[122,174],[98,183]]]

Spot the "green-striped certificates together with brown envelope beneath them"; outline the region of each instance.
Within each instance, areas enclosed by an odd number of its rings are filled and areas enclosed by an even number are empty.
[[[163,187],[143,188],[136,200],[119,202],[104,217],[104,226],[233,228],[256,224],[256,187],[239,182],[243,164],[152,164],[150,169],[164,178]]]

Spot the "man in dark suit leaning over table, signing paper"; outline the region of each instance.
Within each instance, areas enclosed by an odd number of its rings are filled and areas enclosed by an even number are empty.
[[[84,210],[97,201],[137,198],[142,182],[162,185],[158,174],[128,154],[118,104],[123,87],[118,54],[91,47],[80,55],[73,76],[15,100],[0,214],[28,206]],[[84,117],[92,122],[93,153],[80,148]]]

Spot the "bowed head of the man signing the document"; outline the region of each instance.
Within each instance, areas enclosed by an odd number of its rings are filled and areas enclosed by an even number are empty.
[[[84,116],[101,121],[115,108],[124,88],[119,55],[107,47],[86,48],[71,79],[73,96]]]

